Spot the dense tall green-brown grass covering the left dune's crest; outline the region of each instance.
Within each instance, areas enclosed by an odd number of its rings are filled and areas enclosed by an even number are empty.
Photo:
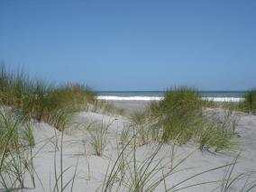
[[[91,89],[68,83],[54,86],[29,78],[23,71],[10,72],[0,66],[0,104],[10,106],[26,119],[45,121],[61,129],[61,122],[69,114],[86,110],[87,104],[95,102]]]

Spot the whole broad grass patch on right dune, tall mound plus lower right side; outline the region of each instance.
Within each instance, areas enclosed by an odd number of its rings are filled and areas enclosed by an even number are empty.
[[[167,91],[159,103],[151,103],[144,114],[132,114],[132,125],[140,127],[142,143],[197,142],[201,150],[233,149],[236,116],[232,111],[225,111],[213,119],[213,115],[204,112],[205,105],[197,90],[176,87]]]

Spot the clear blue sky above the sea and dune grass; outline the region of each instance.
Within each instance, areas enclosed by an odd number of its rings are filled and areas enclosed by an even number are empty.
[[[0,0],[0,60],[96,90],[244,90],[256,1]]]

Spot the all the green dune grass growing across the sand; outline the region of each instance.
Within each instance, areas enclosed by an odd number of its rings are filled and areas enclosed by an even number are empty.
[[[254,98],[253,96],[253,94],[250,95],[247,100],[245,98],[246,102],[244,103],[248,106],[246,109],[251,112],[255,109],[253,109],[254,103],[251,99]],[[96,99],[95,94],[82,85],[67,84],[56,87],[43,81],[31,80],[23,71],[12,73],[6,71],[5,66],[1,66],[0,102],[5,106],[4,112],[1,109],[0,113],[0,189],[12,191],[27,187],[26,174],[32,179],[32,188],[35,187],[32,163],[32,147],[35,142],[29,120],[44,121],[63,131],[67,127],[72,113],[87,109],[87,104],[96,104]],[[224,115],[222,119],[218,119],[219,121],[212,121],[211,117],[206,116],[202,110],[206,105],[214,104],[204,103],[193,88],[178,87],[167,91],[164,100],[151,104],[146,113],[132,114],[133,137],[128,138],[129,133],[123,132],[122,149],[118,151],[118,157],[114,161],[113,167],[109,167],[107,170],[102,191],[111,191],[116,186],[116,191],[154,191],[160,186],[165,191],[181,190],[193,187],[178,188],[190,179],[215,169],[227,167],[228,165],[224,165],[208,169],[169,187],[166,179],[173,176],[178,165],[187,160],[188,156],[176,165],[173,164],[172,159],[168,164],[164,164],[157,158],[163,143],[169,141],[179,144],[196,141],[201,150],[209,150],[213,147],[215,151],[233,148],[232,139],[236,124],[232,114]],[[104,112],[113,113],[114,111],[113,105],[104,104],[99,108]],[[92,124],[87,128],[90,146],[97,156],[102,156],[105,151],[107,130],[110,125],[111,122],[104,123],[102,121],[102,123]],[[74,176],[65,183],[63,177],[69,168],[63,167],[63,136],[62,132],[59,171],[56,166],[58,148],[58,143],[56,143],[53,191],[63,191],[68,186],[72,190],[78,168],[77,162]],[[148,144],[151,141],[160,142],[160,145],[150,156],[139,160],[136,155],[138,141],[139,145]],[[172,149],[172,155],[173,151]],[[168,171],[166,171],[167,167]],[[222,191],[227,191],[234,183],[231,178],[232,170],[224,176]],[[210,182],[196,185],[207,183]],[[249,189],[253,187],[255,187],[254,183]]]

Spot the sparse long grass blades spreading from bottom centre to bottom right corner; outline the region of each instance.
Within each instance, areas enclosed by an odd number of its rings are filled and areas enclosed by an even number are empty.
[[[213,191],[230,191],[237,182],[244,182],[241,188],[243,191],[252,191],[256,186],[256,182],[251,177],[250,185],[247,185],[247,180],[250,178],[249,173],[242,173],[235,175],[233,169],[236,165],[236,160],[232,163],[212,169],[201,170],[201,172],[193,173],[190,176],[170,182],[176,174],[186,172],[186,169],[181,169],[184,162],[189,159],[188,153],[180,160],[173,160],[175,156],[174,150],[171,149],[170,159],[164,159],[160,155],[163,143],[151,146],[151,152],[146,153],[143,157],[138,156],[138,148],[136,146],[136,135],[123,145],[122,150],[118,151],[118,156],[115,160],[110,160],[108,169],[105,173],[105,180],[103,185],[99,188],[101,191],[182,191],[189,190],[190,187],[199,187],[204,185],[215,184]],[[175,163],[174,163],[175,161]],[[215,170],[224,170],[224,178],[218,180],[201,180],[200,182],[193,182],[194,178],[203,177],[206,173],[214,172]],[[243,176],[249,176],[245,178]],[[175,179],[174,179],[175,180]],[[99,191],[98,190],[98,191]]]

